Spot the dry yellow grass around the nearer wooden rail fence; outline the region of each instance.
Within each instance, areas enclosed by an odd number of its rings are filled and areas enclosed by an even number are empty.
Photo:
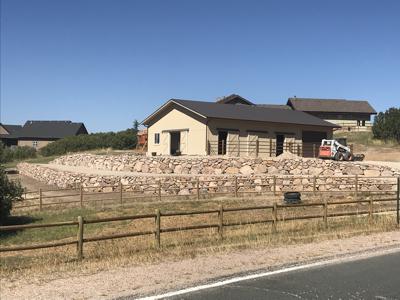
[[[260,204],[260,199],[250,198],[247,201],[236,199],[230,201],[229,206],[249,206]],[[265,199],[262,201],[265,204]],[[221,203],[217,200],[186,201],[177,203],[166,203],[161,206],[162,210],[193,210],[215,208]],[[86,218],[101,218],[115,215],[128,215],[154,212],[160,207],[160,203],[137,204],[135,208],[94,211],[69,210],[46,212],[36,214],[33,217],[41,219],[38,222],[56,222],[71,220],[77,215]],[[385,205],[376,205],[375,209],[385,210]],[[365,210],[360,205],[348,205],[338,208],[343,210]],[[293,215],[322,214],[318,208],[310,211],[310,208],[285,210],[279,214],[280,219]],[[224,223],[246,220],[270,219],[270,210],[258,210],[248,212],[224,213]],[[162,217],[162,228],[180,227],[196,224],[217,223],[217,215],[193,215],[181,217]],[[63,227],[61,227],[63,228]],[[277,232],[274,232],[271,224],[243,225],[224,227],[224,238],[219,238],[216,229],[191,230],[174,233],[163,233],[161,235],[161,249],[156,249],[154,236],[143,236],[135,238],[123,238],[101,242],[90,242],[84,244],[83,261],[76,260],[75,246],[61,248],[40,249],[15,253],[3,253],[1,255],[1,272],[3,276],[39,276],[40,274],[59,274],[67,276],[69,272],[92,273],[116,266],[146,264],[167,260],[180,260],[183,257],[196,257],[198,255],[212,255],[221,252],[233,251],[244,248],[268,248],[297,243],[311,243],[326,239],[340,239],[360,234],[371,234],[375,232],[391,231],[395,228],[394,214],[376,215],[373,219],[367,216],[344,217],[329,219],[329,227],[326,229],[322,219],[304,221],[279,222]],[[87,224],[85,225],[85,237],[116,234],[123,232],[135,232],[140,230],[154,229],[154,220],[119,221],[112,223]],[[46,231],[45,231],[46,230]],[[31,232],[31,233],[29,233]],[[51,238],[52,237],[52,238]],[[50,239],[64,240],[75,239],[76,228],[69,229],[31,229],[18,232],[14,236],[2,238],[3,245],[19,244],[22,241],[46,241]],[[63,274],[63,275],[62,275]]]

